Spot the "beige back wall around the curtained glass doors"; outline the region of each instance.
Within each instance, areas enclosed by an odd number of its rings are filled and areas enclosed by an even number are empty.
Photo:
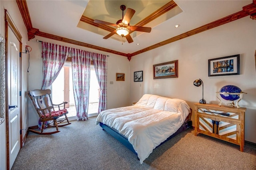
[[[82,49],[86,51],[92,51],[104,55],[109,55],[107,58],[107,108],[111,109],[114,107],[122,107],[130,105],[130,70],[129,61],[126,57],[114,55],[111,53],[105,53],[103,51],[97,51],[94,49],[88,49],[85,47],[80,47],[78,45],[63,43],[61,41],[56,41],[52,39],[47,39],[44,37],[38,37],[29,41],[32,47],[32,52],[30,53],[30,71],[28,73],[29,79],[29,90],[40,89],[42,86],[42,45],[40,42],[36,42],[36,39],[40,41],[45,41],[49,43],[55,43],[58,45],[64,45],[68,47],[73,47],[77,49]],[[116,73],[124,73],[125,81],[116,81]],[[113,84],[110,84],[110,81]],[[34,111],[32,102],[28,102],[29,110],[29,126],[37,125],[38,115]]]

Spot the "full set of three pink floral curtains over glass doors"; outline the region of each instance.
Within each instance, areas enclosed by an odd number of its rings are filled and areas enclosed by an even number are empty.
[[[52,43],[42,42],[43,82],[41,89],[47,89],[58,76],[69,53],[72,58],[72,75],[76,119],[88,119],[90,90],[90,61],[94,62],[95,72],[100,86],[98,113],[106,110],[107,60],[106,55],[91,53]],[[91,57],[91,58],[90,58]]]

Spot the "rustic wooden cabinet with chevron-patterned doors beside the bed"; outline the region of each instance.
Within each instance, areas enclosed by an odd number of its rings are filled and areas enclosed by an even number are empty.
[[[217,104],[194,104],[195,135],[202,133],[236,145],[244,152],[244,115],[246,108],[218,106]]]

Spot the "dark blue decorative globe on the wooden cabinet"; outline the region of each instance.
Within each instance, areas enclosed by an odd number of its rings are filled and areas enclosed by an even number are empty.
[[[237,86],[233,86],[233,85],[227,85],[224,86],[220,89],[220,92],[226,92],[226,93],[241,93],[242,90],[237,87]],[[220,96],[225,99],[225,100],[229,100],[229,101],[234,101],[234,100],[238,100],[239,96],[236,94],[220,94]]]

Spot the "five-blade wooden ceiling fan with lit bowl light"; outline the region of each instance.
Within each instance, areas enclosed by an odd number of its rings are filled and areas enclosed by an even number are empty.
[[[106,35],[105,37],[103,37],[103,39],[108,39],[109,37],[111,37],[112,35],[114,35],[115,33],[117,33],[118,35],[122,36],[122,37],[126,37],[128,43],[132,43],[132,37],[130,36],[129,32],[130,31],[141,31],[141,32],[147,32],[150,33],[151,28],[150,27],[140,27],[140,26],[130,26],[130,20],[132,18],[132,16],[135,13],[135,10],[131,9],[131,8],[127,8],[127,11],[124,15],[124,10],[126,9],[125,5],[121,5],[120,9],[123,12],[123,19],[122,20],[118,20],[116,22],[116,24],[114,23],[110,23],[110,22],[106,22],[106,21],[100,21],[100,20],[94,20],[94,23],[101,23],[101,24],[105,24],[105,25],[111,25],[116,27],[116,30],[114,30],[112,33]]]

